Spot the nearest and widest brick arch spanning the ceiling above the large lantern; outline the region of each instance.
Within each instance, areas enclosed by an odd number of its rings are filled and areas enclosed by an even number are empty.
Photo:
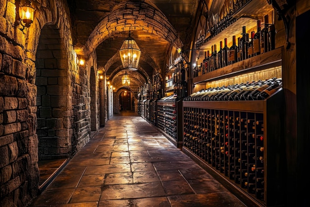
[[[98,23],[85,46],[76,51],[79,55],[88,57],[106,38],[129,30],[141,30],[156,34],[175,48],[183,47],[176,30],[158,8],[146,2],[124,1],[116,5]]]

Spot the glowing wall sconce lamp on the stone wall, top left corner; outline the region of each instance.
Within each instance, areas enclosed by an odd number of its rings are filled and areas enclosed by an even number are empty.
[[[19,17],[17,21],[19,21],[22,26],[20,30],[23,31],[25,27],[28,28],[32,24],[35,8],[32,6],[31,0],[20,0],[16,1],[16,3],[16,10],[18,11],[18,15],[16,16]]]

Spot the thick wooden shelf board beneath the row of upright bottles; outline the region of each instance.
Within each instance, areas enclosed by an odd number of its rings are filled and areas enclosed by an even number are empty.
[[[281,66],[282,50],[283,47],[280,47],[267,53],[263,53],[261,55],[246,59],[244,61],[240,61],[238,63],[234,63],[232,65],[213,70],[203,75],[194,77],[192,82],[194,84],[198,84],[210,80],[236,76],[244,72],[258,71]]]

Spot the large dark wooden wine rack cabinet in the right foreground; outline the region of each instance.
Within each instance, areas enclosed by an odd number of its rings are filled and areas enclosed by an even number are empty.
[[[182,150],[249,206],[281,206],[283,97],[279,89],[259,101],[183,101]]]

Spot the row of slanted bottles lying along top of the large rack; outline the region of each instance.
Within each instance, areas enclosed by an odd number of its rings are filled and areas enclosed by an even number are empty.
[[[264,100],[282,87],[282,78],[270,78],[228,86],[210,87],[184,98],[184,101]]]

